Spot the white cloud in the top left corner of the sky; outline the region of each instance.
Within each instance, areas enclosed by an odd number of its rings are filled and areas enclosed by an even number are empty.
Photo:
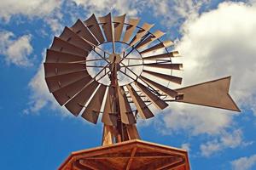
[[[27,17],[44,17],[51,14],[55,8],[60,7],[61,0],[2,0],[0,6],[0,19],[9,21],[15,14]]]

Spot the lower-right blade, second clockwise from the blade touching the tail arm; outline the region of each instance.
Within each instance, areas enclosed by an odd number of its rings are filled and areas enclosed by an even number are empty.
[[[139,115],[143,119],[148,119],[150,117],[153,117],[154,116],[153,113],[148,109],[148,106],[143,102],[143,99],[140,98],[140,96],[136,93],[134,88],[132,88],[130,84],[127,84],[126,87],[129,91],[129,94],[131,95],[131,99],[133,103],[137,107],[137,111]]]

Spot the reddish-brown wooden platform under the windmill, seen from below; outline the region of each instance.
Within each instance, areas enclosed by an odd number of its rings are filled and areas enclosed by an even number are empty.
[[[143,140],[129,140],[72,152],[59,170],[189,170],[186,150]]]

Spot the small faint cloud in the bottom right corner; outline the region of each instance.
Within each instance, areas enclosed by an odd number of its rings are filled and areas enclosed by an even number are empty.
[[[256,155],[241,157],[237,160],[231,161],[233,170],[249,170],[256,167]]]

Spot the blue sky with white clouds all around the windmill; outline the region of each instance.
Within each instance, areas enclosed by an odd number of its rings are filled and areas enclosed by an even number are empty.
[[[172,103],[138,123],[142,139],[189,150],[191,169],[256,169],[253,0],[1,1],[1,168],[56,169],[71,151],[101,144],[101,123],[92,125],[56,104],[42,62],[64,26],[109,12],[166,31],[183,55],[183,86],[231,75],[230,94],[241,108],[238,114]]]

